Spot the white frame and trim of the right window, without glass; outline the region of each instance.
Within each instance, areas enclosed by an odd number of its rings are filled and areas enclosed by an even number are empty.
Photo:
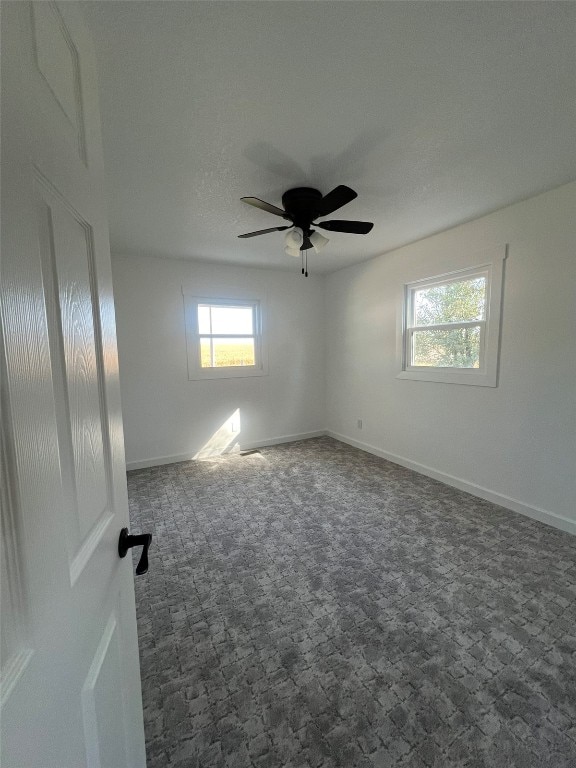
[[[488,262],[477,263],[464,269],[454,269],[404,284],[399,339],[400,371],[397,374],[397,378],[446,384],[468,384],[480,387],[498,386],[500,315],[505,255],[504,252],[502,256],[496,256]],[[413,324],[413,302],[417,290],[473,279],[475,277],[486,278],[486,305],[483,320],[426,326],[415,326]],[[449,368],[411,364],[412,338],[416,331],[464,327],[480,328],[480,360],[478,368]]]

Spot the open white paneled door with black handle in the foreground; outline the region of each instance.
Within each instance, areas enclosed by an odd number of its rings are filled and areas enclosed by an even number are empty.
[[[1,765],[143,768],[95,59],[76,3],[1,11]]]

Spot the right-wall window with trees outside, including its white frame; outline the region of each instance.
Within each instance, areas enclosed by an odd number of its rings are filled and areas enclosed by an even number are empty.
[[[502,262],[408,283],[400,378],[496,386]]]

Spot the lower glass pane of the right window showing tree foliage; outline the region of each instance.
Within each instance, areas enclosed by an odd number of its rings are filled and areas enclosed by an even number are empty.
[[[414,331],[412,365],[479,368],[480,327]]]

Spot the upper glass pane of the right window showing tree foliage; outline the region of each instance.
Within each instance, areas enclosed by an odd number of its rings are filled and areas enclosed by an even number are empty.
[[[485,277],[421,288],[414,291],[414,325],[484,320],[485,305]]]

